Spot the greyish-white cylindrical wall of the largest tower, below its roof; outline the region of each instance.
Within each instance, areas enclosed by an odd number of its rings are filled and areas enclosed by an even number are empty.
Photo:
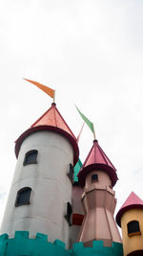
[[[37,150],[37,164],[23,166],[27,151]],[[48,234],[49,240],[69,243],[69,223],[64,217],[65,202],[72,200],[72,183],[67,176],[73,163],[68,139],[52,131],[37,131],[21,146],[1,233],[14,236],[15,230]],[[31,187],[31,204],[15,207],[17,191]]]

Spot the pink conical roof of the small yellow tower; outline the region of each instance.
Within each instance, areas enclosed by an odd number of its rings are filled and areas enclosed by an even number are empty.
[[[133,209],[133,208],[143,208],[143,200],[141,198],[137,197],[136,194],[132,192],[116,215],[116,222],[119,226],[121,226],[122,215],[126,211]]]

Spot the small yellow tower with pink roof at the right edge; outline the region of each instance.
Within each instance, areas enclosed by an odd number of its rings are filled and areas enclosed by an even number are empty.
[[[143,256],[143,200],[133,192],[116,215],[122,228],[124,256]]]

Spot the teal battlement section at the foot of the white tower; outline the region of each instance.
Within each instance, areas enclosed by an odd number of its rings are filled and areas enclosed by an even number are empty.
[[[48,236],[37,233],[34,239],[29,238],[29,231],[15,231],[14,238],[8,234],[0,236],[1,256],[69,256],[65,243],[55,240],[48,242]]]

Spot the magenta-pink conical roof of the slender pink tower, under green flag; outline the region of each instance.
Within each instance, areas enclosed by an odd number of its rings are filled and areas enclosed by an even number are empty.
[[[84,186],[85,178],[93,170],[102,170],[107,172],[112,179],[112,186],[117,181],[116,169],[112,165],[112,162],[101,149],[97,140],[93,141],[92,149],[89,152],[80,172],[78,173],[79,183]]]

